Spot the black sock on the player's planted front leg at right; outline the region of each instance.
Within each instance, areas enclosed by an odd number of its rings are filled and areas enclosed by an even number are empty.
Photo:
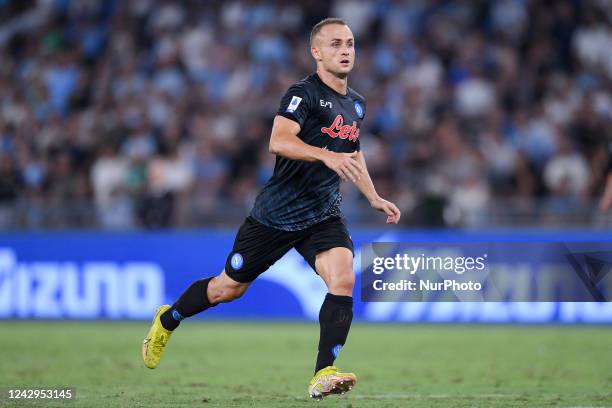
[[[321,337],[315,373],[333,365],[340,349],[346,342],[353,321],[353,298],[328,293],[319,312]]]

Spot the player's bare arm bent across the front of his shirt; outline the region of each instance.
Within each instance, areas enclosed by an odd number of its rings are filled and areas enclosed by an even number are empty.
[[[299,138],[298,133],[300,133],[299,123],[277,115],[274,118],[268,150],[270,153],[291,160],[321,162],[335,171],[345,181],[352,180],[355,182],[361,178],[364,170],[358,161],[358,152],[336,153],[321,149],[304,143]]]

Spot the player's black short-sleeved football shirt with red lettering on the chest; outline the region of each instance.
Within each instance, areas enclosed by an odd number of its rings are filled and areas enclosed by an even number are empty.
[[[305,143],[333,152],[360,150],[359,128],[365,116],[363,96],[348,88],[342,95],[312,74],[291,86],[278,115],[300,125]],[[251,216],[285,231],[308,228],[341,215],[340,177],[321,162],[276,157],[274,173],[255,200]]]

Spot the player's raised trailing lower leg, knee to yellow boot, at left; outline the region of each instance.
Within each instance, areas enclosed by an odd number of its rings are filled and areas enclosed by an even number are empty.
[[[223,271],[218,276],[193,282],[172,306],[163,305],[157,309],[149,333],[142,343],[142,359],[145,366],[157,367],[172,332],[181,320],[219,303],[239,298],[249,284],[236,282]]]

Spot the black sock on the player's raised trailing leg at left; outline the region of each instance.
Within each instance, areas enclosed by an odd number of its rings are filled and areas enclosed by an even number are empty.
[[[210,303],[206,294],[208,283],[211,279],[206,278],[193,282],[172,307],[162,313],[160,320],[166,330],[174,330],[184,318],[217,306],[216,303]]]

